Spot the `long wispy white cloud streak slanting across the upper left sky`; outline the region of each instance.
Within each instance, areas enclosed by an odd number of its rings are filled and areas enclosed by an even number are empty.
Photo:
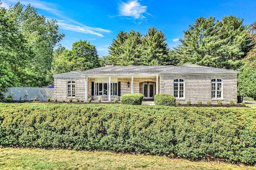
[[[6,0],[6,3],[4,4],[5,6],[9,7],[11,4],[16,4],[16,0]],[[60,18],[57,19],[58,25],[60,28],[69,30],[69,31],[74,31],[74,32],[80,32],[80,33],[85,33],[85,34],[93,34],[97,35],[99,37],[104,37],[103,33],[110,33],[110,30],[107,29],[102,29],[102,28],[97,28],[97,27],[89,27],[86,26],[78,21],[72,20],[64,15],[61,14],[60,11],[56,9],[56,5],[45,2],[45,1],[40,1],[40,0],[33,0],[33,1],[26,1],[26,0],[21,0],[21,4],[23,5],[28,5],[31,4],[31,6],[34,6],[34,8],[41,9],[41,10],[46,10],[56,17]],[[2,5],[3,5],[2,4]]]

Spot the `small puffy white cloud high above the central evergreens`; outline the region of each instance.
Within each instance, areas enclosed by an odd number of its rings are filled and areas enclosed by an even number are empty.
[[[130,16],[136,19],[146,18],[142,14],[146,12],[147,6],[142,6],[138,0],[132,0],[127,3],[122,2],[118,10],[120,16]]]

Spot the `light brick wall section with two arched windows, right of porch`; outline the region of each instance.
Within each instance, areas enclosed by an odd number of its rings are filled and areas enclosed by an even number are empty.
[[[220,78],[223,80],[223,99],[222,104],[229,104],[230,100],[237,102],[237,81],[236,74],[228,75],[161,75],[160,94],[173,95],[174,79],[184,79],[184,99],[179,100],[181,104],[186,104],[188,100],[192,104],[197,104],[200,100],[206,104],[208,100],[212,104],[217,104],[218,100],[211,98],[211,80]]]

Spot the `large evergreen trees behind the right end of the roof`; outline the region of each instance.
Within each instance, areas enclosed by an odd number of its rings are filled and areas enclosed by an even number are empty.
[[[215,18],[197,18],[184,31],[182,45],[176,48],[180,64],[191,63],[226,69],[238,69],[250,50],[247,28],[243,20],[225,16],[221,21]]]

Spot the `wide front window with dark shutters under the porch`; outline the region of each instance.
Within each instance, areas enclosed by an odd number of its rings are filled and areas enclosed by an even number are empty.
[[[109,94],[109,83],[95,83],[95,92],[94,95],[102,96]],[[118,88],[117,83],[110,83],[110,95],[114,96],[117,95]]]

